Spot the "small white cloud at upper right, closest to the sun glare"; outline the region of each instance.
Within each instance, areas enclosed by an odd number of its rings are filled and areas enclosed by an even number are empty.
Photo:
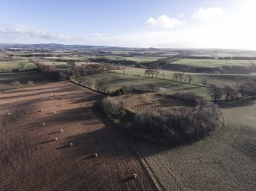
[[[219,18],[224,14],[222,8],[199,8],[194,14],[193,18],[198,18],[201,20],[209,20]]]

